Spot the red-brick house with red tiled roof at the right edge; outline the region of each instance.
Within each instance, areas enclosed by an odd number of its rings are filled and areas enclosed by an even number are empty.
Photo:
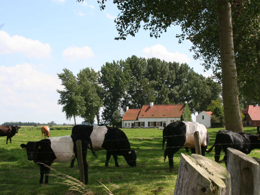
[[[260,106],[249,105],[242,113],[245,115],[243,126],[257,127],[260,125]]]

